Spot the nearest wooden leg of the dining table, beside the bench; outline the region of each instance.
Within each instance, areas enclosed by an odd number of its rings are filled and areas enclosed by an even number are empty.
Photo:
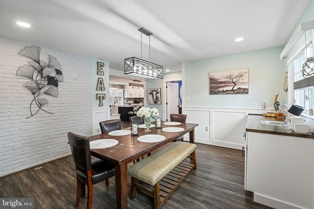
[[[128,164],[115,165],[117,209],[128,208]]]

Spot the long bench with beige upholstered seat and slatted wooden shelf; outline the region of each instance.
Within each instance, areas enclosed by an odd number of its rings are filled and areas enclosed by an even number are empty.
[[[132,165],[128,169],[132,177],[131,199],[136,189],[140,190],[153,197],[155,209],[160,209],[185,177],[196,169],[195,150],[195,144],[177,141]],[[183,162],[190,155],[193,163]]]

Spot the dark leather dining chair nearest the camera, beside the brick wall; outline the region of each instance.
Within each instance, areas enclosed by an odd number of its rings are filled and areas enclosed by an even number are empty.
[[[114,165],[100,159],[91,160],[88,137],[69,132],[68,140],[77,175],[75,208],[78,209],[80,197],[85,195],[85,185],[87,185],[87,209],[91,209],[93,203],[93,185],[105,181],[108,188],[108,179],[115,175]]]

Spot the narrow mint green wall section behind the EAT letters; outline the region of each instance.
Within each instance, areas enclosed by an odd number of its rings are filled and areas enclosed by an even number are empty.
[[[97,75],[97,62],[102,62],[105,64],[103,70],[105,75]],[[97,91],[98,78],[102,77],[105,83],[105,91]],[[92,58],[92,93],[93,93],[93,108],[108,108],[109,107],[109,62]],[[96,93],[105,93],[105,100],[103,100],[104,105],[99,106],[99,99],[96,99]]]

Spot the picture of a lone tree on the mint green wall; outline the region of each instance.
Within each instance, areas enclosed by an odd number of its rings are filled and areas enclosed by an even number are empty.
[[[209,72],[209,94],[248,94],[249,69]]]

